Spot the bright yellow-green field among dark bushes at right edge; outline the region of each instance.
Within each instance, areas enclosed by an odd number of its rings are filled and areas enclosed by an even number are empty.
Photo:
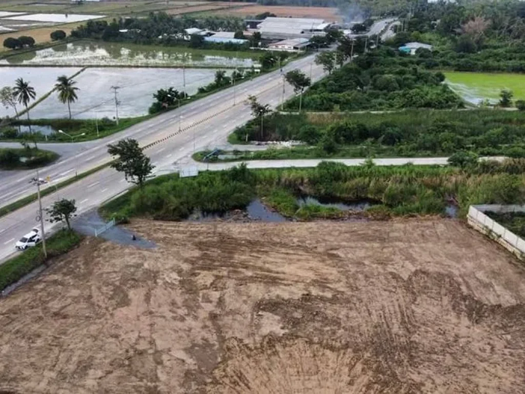
[[[447,71],[445,77],[450,88],[469,102],[499,100],[502,89],[512,90],[514,100],[525,99],[524,74]]]

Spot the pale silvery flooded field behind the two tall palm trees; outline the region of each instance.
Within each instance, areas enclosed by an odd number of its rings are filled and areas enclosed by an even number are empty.
[[[35,87],[37,95],[41,96],[51,90],[59,75],[71,76],[78,68],[0,68],[0,79],[4,81],[4,74],[8,75],[8,83],[13,85],[14,80],[23,77]],[[197,88],[212,82],[216,69],[186,69],[186,91],[191,96]],[[115,115],[114,94],[111,86],[120,86],[118,90],[119,116],[134,117],[146,115],[153,102],[153,93],[160,89],[173,86],[176,90],[183,90],[183,70],[180,68],[88,68],[77,77],[78,100],[71,103],[71,113],[74,119],[112,119]],[[12,113],[13,112],[13,113]],[[14,111],[0,108],[1,116],[13,116]],[[35,108],[31,109],[33,119],[67,118],[67,105],[58,101],[54,92]]]

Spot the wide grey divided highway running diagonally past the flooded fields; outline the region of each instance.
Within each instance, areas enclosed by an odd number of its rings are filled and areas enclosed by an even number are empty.
[[[299,59],[283,67],[283,72],[299,68],[309,75],[311,67],[312,79],[318,80],[324,75],[324,72],[321,67],[313,64],[313,59],[313,55]],[[139,140],[142,146],[161,141],[146,149],[145,153],[157,167],[156,172],[162,173],[163,168],[169,168],[174,162],[188,157],[195,150],[213,148],[223,144],[224,139],[233,129],[250,119],[250,110],[245,103],[248,95],[256,95],[260,102],[277,107],[281,102],[281,92],[280,72],[271,72],[237,86],[235,106],[234,89],[220,91],[180,109],[132,126],[113,136],[93,141],[93,146],[87,147],[74,157],[66,158],[47,167],[40,176],[44,178],[49,175],[53,180],[51,184],[53,184],[71,177],[75,172],[81,173],[97,167],[110,160],[106,147],[108,143],[129,137]],[[292,95],[291,87],[286,86],[285,99]],[[177,133],[179,125],[182,132]],[[31,189],[28,185],[33,175],[30,173],[22,176],[10,174],[8,177],[2,175],[0,205],[34,193],[35,188]],[[7,189],[5,184],[8,185]],[[108,168],[46,196],[43,198],[43,206],[49,206],[60,198],[75,199],[79,213],[81,213],[100,205],[103,201],[128,188],[129,185],[123,179],[123,175]],[[38,204],[35,202],[12,214],[0,217],[0,261],[14,252],[15,240],[36,225],[37,208]],[[46,225],[46,228],[52,230],[53,226]]]

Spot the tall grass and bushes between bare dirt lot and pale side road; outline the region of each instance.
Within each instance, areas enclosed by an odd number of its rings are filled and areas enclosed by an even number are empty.
[[[260,198],[296,219],[327,217],[326,210],[298,204],[298,196],[310,195],[345,202],[375,201],[366,211],[372,216],[443,214],[447,201],[455,201],[465,214],[470,204],[521,203],[524,169],[523,159],[476,162],[462,168],[378,167],[371,163],[346,167],[323,162],[309,169],[248,170],[241,165],[228,171],[204,172],[196,178],[176,174],[158,177],[110,201],[102,210],[108,217],[183,220],[195,211],[244,209]],[[332,211],[336,217],[341,213]]]

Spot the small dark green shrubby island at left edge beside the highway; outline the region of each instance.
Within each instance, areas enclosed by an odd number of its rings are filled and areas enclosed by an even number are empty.
[[[25,148],[0,148],[0,169],[28,170],[44,167],[58,159],[58,154],[43,149],[26,146]]]

